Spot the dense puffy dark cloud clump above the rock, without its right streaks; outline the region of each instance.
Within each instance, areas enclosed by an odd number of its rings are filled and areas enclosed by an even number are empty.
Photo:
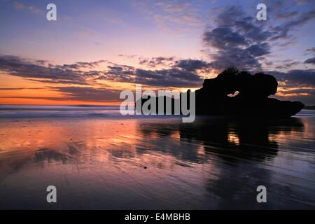
[[[209,48],[212,67],[261,69],[259,59],[269,54],[267,39],[272,35],[264,24],[247,16],[239,6],[225,8],[214,21],[217,26],[203,35],[203,41]]]

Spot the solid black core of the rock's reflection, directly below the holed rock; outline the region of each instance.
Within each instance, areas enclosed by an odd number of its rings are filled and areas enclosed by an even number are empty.
[[[304,125],[298,118],[267,120],[255,118],[202,118],[190,130],[181,125],[183,139],[195,139],[204,143],[205,151],[216,153],[228,162],[241,160],[269,160],[278,153],[282,132],[302,132]]]

